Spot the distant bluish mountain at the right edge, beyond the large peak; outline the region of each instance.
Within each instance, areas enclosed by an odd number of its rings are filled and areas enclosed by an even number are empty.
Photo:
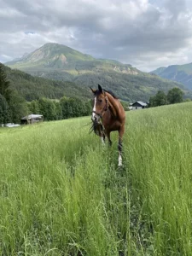
[[[192,90],[192,63],[159,67],[150,73],[154,73],[163,79],[171,79],[184,84],[186,88]]]

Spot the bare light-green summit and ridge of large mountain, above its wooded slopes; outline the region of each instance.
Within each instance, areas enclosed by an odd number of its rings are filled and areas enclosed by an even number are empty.
[[[24,55],[20,60],[5,63],[9,67],[44,76],[48,71],[66,71],[72,75],[104,70],[114,70],[122,73],[139,73],[139,71],[124,65],[119,61],[95,59],[62,44],[48,43],[31,54]]]

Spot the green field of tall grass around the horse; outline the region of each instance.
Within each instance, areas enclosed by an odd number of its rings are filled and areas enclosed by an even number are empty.
[[[191,255],[192,103],[0,129],[0,255]]]

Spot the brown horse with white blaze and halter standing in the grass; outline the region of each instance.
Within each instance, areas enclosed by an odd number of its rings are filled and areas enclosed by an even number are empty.
[[[91,88],[90,88],[91,89]],[[119,132],[119,166],[122,166],[122,137],[125,131],[125,110],[118,98],[108,90],[102,90],[102,86],[98,84],[98,90],[91,89],[94,93],[94,107],[92,111],[93,130],[96,135],[105,142],[108,137],[109,145],[112,144],[110,139],[111,131]]]

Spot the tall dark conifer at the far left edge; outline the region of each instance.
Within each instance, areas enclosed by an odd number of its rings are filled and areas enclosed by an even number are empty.
[[[3,64],[0,63],[0,94],[9,103],[12,91],[9,89],[10,82],[7,80],[7,75],[3,70]]]

